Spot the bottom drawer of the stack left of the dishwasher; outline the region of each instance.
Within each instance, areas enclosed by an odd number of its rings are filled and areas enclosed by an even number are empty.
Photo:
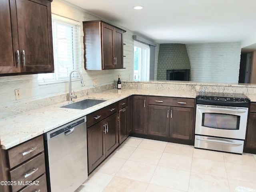
[[[45,174],[43,174],[42,176],[40,176],[39,178],[34,180],[34,182],[31,182],[31,183],[32,183],[31,185],[26,186],[19,192],[32,192],[32,191],[33,192],[34,191],[47,192],[46,175]]]

